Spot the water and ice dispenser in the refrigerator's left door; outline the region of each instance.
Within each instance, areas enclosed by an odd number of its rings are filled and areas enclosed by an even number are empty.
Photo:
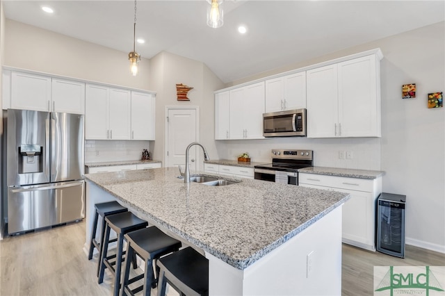
[[[43,172],[43,147],[35,144],[22,144],[18,147],[19,174]]]

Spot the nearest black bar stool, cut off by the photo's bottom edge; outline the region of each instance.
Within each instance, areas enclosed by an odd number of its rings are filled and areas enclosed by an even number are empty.
[[[158,260],[158,296],[165,296],[170,284],[180,295],[209,295],[209,260],[186,247]]]

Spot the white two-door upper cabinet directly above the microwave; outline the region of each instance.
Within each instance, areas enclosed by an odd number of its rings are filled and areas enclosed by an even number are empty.
[[[306,72],[266,80],[266,113],[306,108]]]

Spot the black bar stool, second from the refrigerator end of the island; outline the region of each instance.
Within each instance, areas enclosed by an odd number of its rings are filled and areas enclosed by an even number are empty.
[[[131,212],[124,212],[115,215],[108,215],[105,217],[106,227],[105,227],[105,236],[104,243],[102,247],[102,254],[99,261],[99,279],[98,283],[102,283],[104,281],[104,272],[105,268],[108,268],[114,276],[114,293],[113,295],[119,295],[120,288],[120,270],[122,261],[125,259],[122,258],[122,255],[125,253],[122,252],[122,245],[124,244],[124,235],[131,231],[135,231],[138,229],[143,229],[148,226],[148,222],[142,220],[136,215],[133,215]],[[115,233],[118,234],[118,246],[116,250],[116,254],[107,256],[108,253],[108,242],[110,239],[110,230],[113,229]],[[129,261],[128,256],[127,260]],[[112,261],[115,258],[114,261]],[[115,268],[113,268],[115,265]]]

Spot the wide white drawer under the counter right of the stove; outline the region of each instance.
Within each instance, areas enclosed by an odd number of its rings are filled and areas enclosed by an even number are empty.
[[[373,191],[373,180],[346,178],[343,176],[325,176],[321,174],[300,173],[298,174],[298,183],[364,192]]]

